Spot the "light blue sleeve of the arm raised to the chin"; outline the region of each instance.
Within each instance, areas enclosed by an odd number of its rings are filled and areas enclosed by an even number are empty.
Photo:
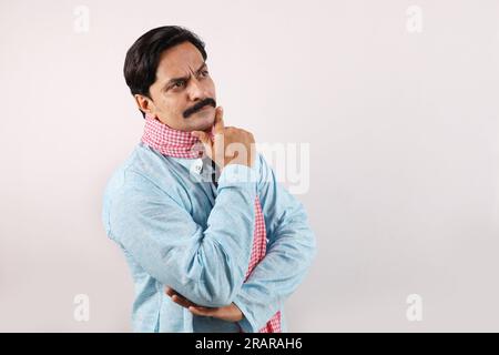
[[[174,199],[139,172],[105,203],[108,236],[152,277],[192,302],[231,304],[249,262],[254,230],[255,171],[227,165],[205,230]],[[108,222],[105,222],[108,221]]]

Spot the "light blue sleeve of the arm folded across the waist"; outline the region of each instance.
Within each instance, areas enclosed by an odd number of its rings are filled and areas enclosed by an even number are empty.
[[[276,181],[259,155],[258,194],[265,217],[267,253],[243,284],[234,304],[245,333],[258,332],[304,280],[316,255],[315,235],[303,204]]]

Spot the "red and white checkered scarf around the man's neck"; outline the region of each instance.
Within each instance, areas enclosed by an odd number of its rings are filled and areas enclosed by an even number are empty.
[[[144,134],[142,142],[159,151],[163,155],[173,158],[196,159],[203,155],[203,145],[200,140],[191,135],[191,132],[177,131],[162,123],[154,116],[145,116]],[[265,220],[258,196],[255,199],[255,231],[253,234],[253,247],[249,266],[245,281],[253,268],[264,258],[266,252]],[[241,329],[241,327],[240,327]],[[243,332],[241,329],[241,332]],[[277,312],[259,333],[281,333],[281,312]]]

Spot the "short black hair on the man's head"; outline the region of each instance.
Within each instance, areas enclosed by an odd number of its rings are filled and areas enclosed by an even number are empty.
[[[151,99],[150,87],[156,81],[156,70],[161,54],[176,44],[191,42],[206,60],[204,42],[190,30],[180,26],[164,26],[142,34],[126,52],[123,74],[132,95],[141,94]],[[144,112],[142,115],[145,118]]]

